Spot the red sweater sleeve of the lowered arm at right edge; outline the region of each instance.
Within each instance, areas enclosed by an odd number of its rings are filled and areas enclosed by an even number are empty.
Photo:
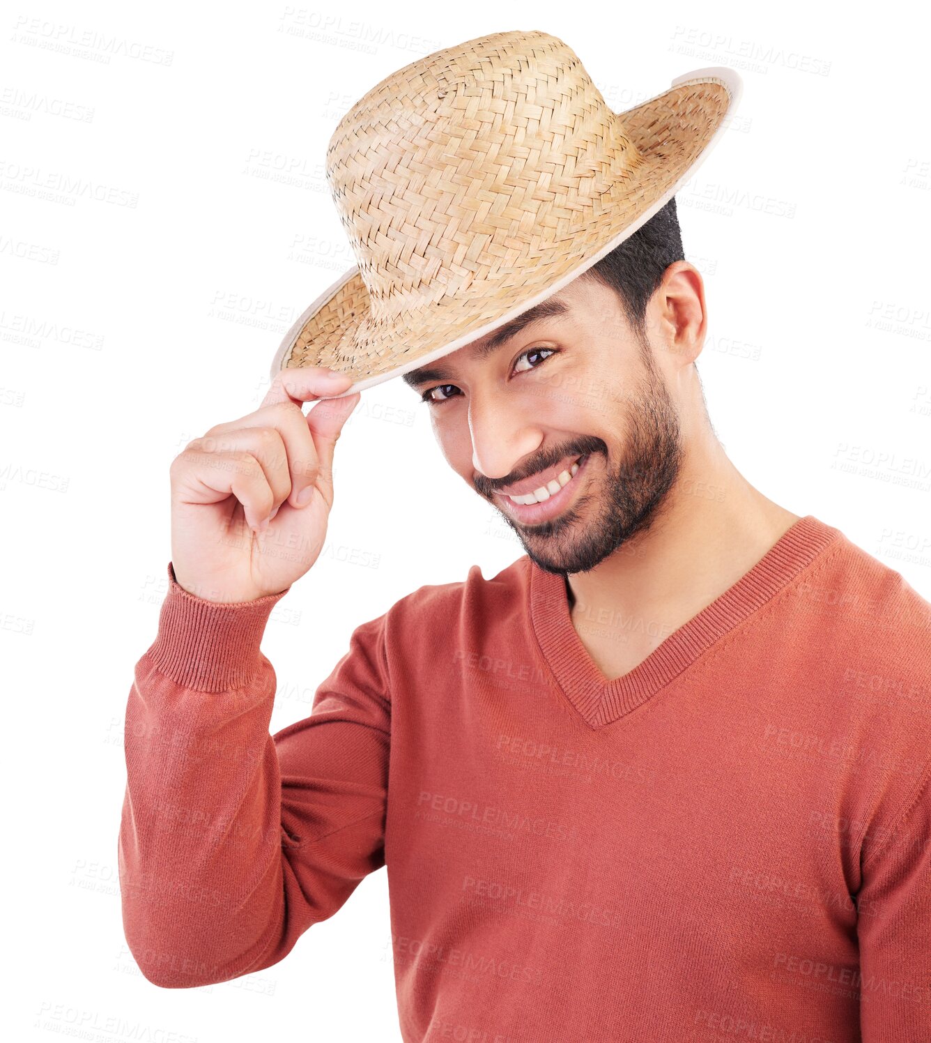
[[[857,896],[863,1043],[931,1040],[931,769],[864,855]]]

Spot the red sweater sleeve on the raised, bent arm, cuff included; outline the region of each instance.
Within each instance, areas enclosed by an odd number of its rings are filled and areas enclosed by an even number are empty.
[[[140,970],[187,988],[283,960],[385,864],[387,613],[352,632],[311,715],[271,735],[260,642],[288,590],[220,604],[168,573],[126,706],[118,866]]]

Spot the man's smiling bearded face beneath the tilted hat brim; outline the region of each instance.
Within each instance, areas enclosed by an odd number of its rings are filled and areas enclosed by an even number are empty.
[[[508,323],[403,379],[426,397],[449,465],[529,557],[550,573],[582,573],[650,525],[683,448],[664,374],[614,291],[577,278],[544,301],[554,304],[565,310],[497,344]],[[530,505],[504,493],[541,487],[549,499]]]

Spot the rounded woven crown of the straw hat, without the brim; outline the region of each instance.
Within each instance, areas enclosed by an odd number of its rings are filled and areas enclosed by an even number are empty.
[[[476,273],[507,282],[499,264],[571,237],[572,216],[590,219],[639,162],[572,49],[509,31],[363,95],[330,138],[326,178],[378,324],[462,294]]]

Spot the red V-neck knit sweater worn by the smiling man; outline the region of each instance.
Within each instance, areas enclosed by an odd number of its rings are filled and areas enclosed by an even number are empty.
[[[838,529],[797,522],[614,679],[561,577],[472,565],[274,735],[287,591],[168,572],[119,834],[150,981],[270,967],[387,866],[407,1043],[931,1040],[931,605]]]

